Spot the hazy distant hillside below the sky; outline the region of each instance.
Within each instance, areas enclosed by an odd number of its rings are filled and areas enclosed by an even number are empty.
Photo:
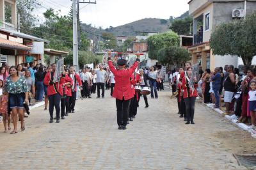
[[[125,24],[123,26],[118,27],[109,27],[107,29],[95,29],[91,26],[91,24],[81,24],[81,29],[88,38],[93,38],[94,34],[102,35],[102,33],[113,33],[115,36],[134,36],[135,31],[156,31],[159,33],[163,33],[165,31],[170,30],[169,27],[172,24],[171,22],[176,19],[183,19],[188,16],[188,12],[183,13],[180,17],[174,18],[170,17],[170,19],[141,19],[129,24]]]

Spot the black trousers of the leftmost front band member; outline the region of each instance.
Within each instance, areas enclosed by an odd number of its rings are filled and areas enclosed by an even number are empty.
[[[60,119],[60,100],[61,100],[61,95],[58,93],[55,95],[50,95],[48,96],[49,100],[49,113],[50,117],[53,118],[53,109],[55,107],[56,111],[56,119]]]

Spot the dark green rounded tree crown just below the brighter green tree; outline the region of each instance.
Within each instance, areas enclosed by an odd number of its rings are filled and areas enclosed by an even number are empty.
[[[157,60],[164,64],[182,66],[186,61],[191,59],[191,56],[188,50],[177,47],[177,46],[168,46],[163,47],[158,51]]]

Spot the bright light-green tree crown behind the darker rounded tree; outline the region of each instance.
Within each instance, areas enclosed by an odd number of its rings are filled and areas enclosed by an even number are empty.
[[[148,56],[151,59],[157,59],[158,50],[163,47],[179,46],[180,39],[177,33],[168,31],[159,35],[148,37]]]

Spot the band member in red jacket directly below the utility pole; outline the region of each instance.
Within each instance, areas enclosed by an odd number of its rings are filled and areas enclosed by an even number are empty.
[[[79,84],[80,88],[82,88],[82,81],[79,75],[75,72],[74,66],[70,66],[70,77],[73,81],[72,86],[72,97],[69,99],[69,112],[75,112],[75,105],[76,105],[76,92],[77,92],[77,83]]]

